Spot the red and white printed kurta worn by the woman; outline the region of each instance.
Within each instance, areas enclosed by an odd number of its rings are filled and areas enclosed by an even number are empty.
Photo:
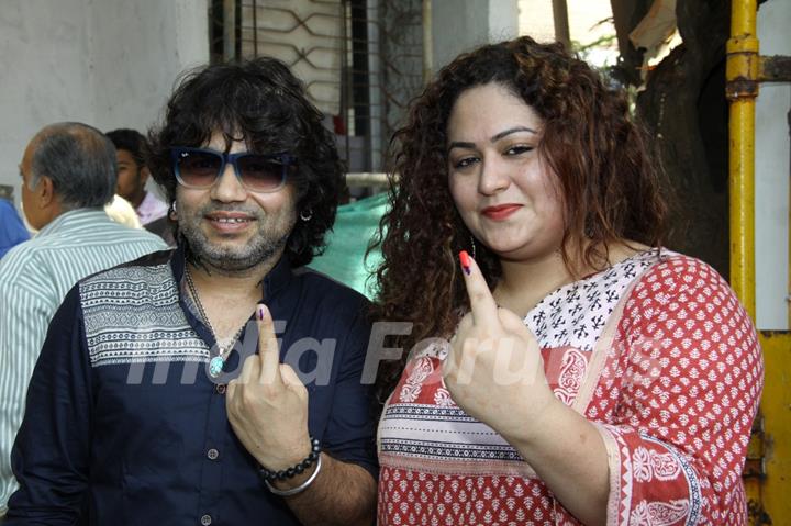
[[[550,293],[525,324],[557,398],[604,439],[608,524],[746,524],[740,473],[764,368],[716,271],[642,253]],[[513,447],[454,403],[446,354],[441,342],[417,352],[385,406],[379,524],[579,524]]]

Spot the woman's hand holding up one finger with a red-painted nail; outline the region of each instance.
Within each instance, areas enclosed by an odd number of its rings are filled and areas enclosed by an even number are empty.
[[[443,365],[445,384],[470,416],[506,439],[524,436],[557,401],[547,385],[541,349],[513,312],[498,307],[478,265],[463,256],[470,312]]]

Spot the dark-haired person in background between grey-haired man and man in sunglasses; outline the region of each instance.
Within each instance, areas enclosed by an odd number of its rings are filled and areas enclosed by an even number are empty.
[[[145,137],[135,130],[119,128],[105,134],[115,145],[119,182],[116,193],[134,206],[144,228],[175,245],[168,221],[168,205],[153,192],[146,191],[151,170],[143,158]]]

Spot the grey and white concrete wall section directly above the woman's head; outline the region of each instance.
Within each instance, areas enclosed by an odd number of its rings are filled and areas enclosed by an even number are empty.
[[[516,0],[433,0],[433,70],[442,69],[461,52],[517,33]]]

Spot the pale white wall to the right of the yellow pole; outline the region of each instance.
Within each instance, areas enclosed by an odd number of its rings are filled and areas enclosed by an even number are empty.
[[[791,2],[758,10],[761,55],[791,55]],[[756,102],[756,325],[787,329],[791,85],[762,83]]]

